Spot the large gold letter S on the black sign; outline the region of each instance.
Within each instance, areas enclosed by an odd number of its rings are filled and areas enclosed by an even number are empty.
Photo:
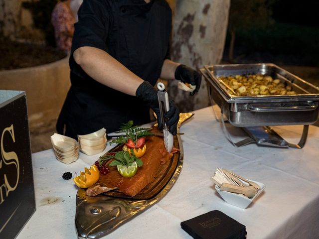
[[[2,157],[2,160],[3,160],[4,164],[6,164],[6,165],[14,164],[14,166],[16,167],[16,172],[17,172],[16,182],[15,182],[15,185],[13,187],[11,187],[11,185],[9,184],[9,182],[6,178],[6,175],[4,174],[5,193],[6,193],[6,196],[8,196],[10,191],[14,191],[16,189],[16,186],[18,185],[18,182],[19,182],[19,160],[18,160],[18,156],[16,155],[15,152],[13,152],[13,151],[12,152],[5,152],[4,151],[3,135],[6,131],[8,131],[10,133],[13,142],[15,142],[13,124],[11,124],[10,127],[4,128],[4,130],[2,131],[2,135],[1,135],[1,157]],[[0,163],[0,165],[1,165],[1,163]]]

